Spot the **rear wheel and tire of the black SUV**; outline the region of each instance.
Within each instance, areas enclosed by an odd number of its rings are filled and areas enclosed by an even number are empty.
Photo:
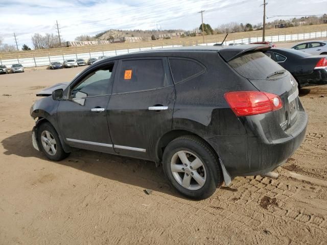
[[[186,159],[182,162],[179,156]],[[184,162],[188,165],[183,165]],[[173,187],[190,199],[210,197],[223,182],[218,157],[205,141],[193,135],[178,137],[167,145],[162,167]]]

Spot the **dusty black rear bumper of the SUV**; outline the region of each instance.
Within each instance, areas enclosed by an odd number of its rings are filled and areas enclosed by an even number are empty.
[[[254,134],[237,136],[215,136],[206,139],[217,151],[231,177],[254,176],[268,173],[293,155],[306,135],[308,115],[298,112],[295,124],[283,131],[283,137],[270,140],[261,134],[260,129]],[[266,129],[270,130],[270,129]],[[275,132],[270,134],[278,135]]]

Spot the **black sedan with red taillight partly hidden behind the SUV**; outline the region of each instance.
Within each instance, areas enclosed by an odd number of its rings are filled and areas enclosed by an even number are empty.
[[[271,48],[265,54],[291,72],[298,88],[327,84],[327,55],[312,56],[292,48]]]

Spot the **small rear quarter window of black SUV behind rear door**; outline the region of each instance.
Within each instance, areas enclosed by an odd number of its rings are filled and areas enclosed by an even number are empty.
[[[189,59],[170,58],[169,64],[175,83],[195,77],[204,71],[202,65]]]

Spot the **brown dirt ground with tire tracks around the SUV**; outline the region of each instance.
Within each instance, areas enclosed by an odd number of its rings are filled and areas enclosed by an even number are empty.
[[[35,93],[82,69],[0,75],[0,244],[327,243],[327,87],[301,91],[307,137],[277,180],[238,177],[191,201],[151,162],[33,149]]]

